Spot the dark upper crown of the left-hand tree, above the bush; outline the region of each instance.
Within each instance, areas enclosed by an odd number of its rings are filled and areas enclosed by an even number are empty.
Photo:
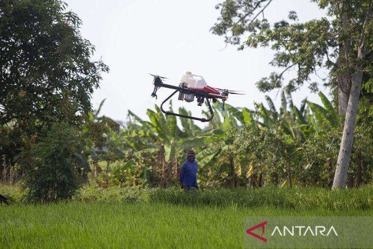
[[[59,0],[0,3],[0,124],[76,121],[91,109],[102,61],[79,31],[80,18]]]

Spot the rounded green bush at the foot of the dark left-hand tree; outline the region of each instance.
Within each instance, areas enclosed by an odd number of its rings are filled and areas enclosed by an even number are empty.
[[[71,199],[80,187],[79,164],[74,155],[82,149],[80,133],[65,122],[55,122],[43,129],[45,137],[24,148],[18,157],[27,171],[25,187],[29,200]]]

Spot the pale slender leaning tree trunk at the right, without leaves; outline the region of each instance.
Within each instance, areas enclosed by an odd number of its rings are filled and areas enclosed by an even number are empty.
[[[354,131],[356,114],[358,111],[358,102],[361,89],[361,81],[363,78],[363,63],[366,54],[366,28],[372,15],[372,4],[369,4],[363,29],[361,32],[361,39],[358,47],[358,62],[356,71],[352,77],[351,93],[349,95],[346,118],[344,121],[343,135],[341,146],[339,148],[338,161],[336,172],[334,175],[333,189],[344,188],[346,185],[346,178],[348,172],[349,158],[351,157],[352,144],[354,141]]]

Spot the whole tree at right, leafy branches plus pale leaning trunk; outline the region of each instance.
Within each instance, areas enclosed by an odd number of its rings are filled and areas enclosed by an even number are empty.
[[[314,0],[321,9],[327,9],[328,17],[298,22],[294,11],[289,20],[280,20],[270,26],[264,18],[264,10],[272,0],[226,0],[216,6],[221,16],[212,32],[224,35],[225,42],[240,44],[240,38],[248,33],[239,49],[270,46],[276,51],[271,65],[282,69],[272,72],[257,82],[263,92],[285,87],[288,93],[305,82],[311,91],[317,91],[318,83],[311,82],[317,70],[330,70],[324,84],[337,89],[339,115],[345,116],[343,136],[338,156],[334,187],[346,183],[349,158],[358,112],[358,101],[363,73],[371,78],[372,62],[366,60],[372,48],[372,1],[370,0]],[[263,14],[263,19],[258,17]],[[294,69],[296,76],[284,82],[283,74]],[[328,81],[325,81],[328,80]],[[370,81],[367,84],[370,85]],[[284,86],[285,85],[285,86]],[[364,87],[367,89],[367,87]]]

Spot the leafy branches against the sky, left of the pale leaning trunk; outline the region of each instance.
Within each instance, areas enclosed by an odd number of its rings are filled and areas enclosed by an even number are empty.
[[[288,93],[293,92],[309,76],[316,67],[330,67],[329,53],[335,53],[337,42],[331,37],[335,29],[327,18],[299,23],[296,13],[289,13],[289,21],[281,20],[272,26],[268,20],[257,18],[271,1],[232,1],[227,0],[216,6],[220,9],[220,17],[211,31],[224,36],[226,43],[240,44],[241,36],[248,33],[248,39],[241,43],[239,49],[245,47],[269,47],[276,51],[271,65],[284,69],[282,72],[272,72],[257,82],[263,92],[283,86],[283,74],[289,69],[296,70],[296,77],[286,84]],[[291,23],[293,22],[293,23]],[[327,59],[327,63],[325,63]],[[309,88],[317,91],[317,83],[311,83]]]

